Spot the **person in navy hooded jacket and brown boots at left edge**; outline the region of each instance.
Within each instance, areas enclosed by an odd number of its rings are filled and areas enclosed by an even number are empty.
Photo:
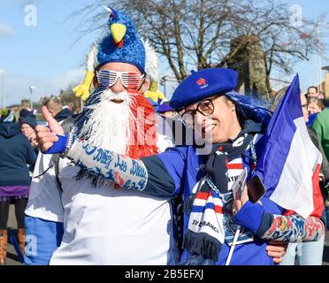
[[[24,210],[30,186],[27,164],[34,165],[36,155],[11,111],[2,111],[0,119],[0,265],[7,253],[9,206],[15,204],[19,247],[24,252]]]

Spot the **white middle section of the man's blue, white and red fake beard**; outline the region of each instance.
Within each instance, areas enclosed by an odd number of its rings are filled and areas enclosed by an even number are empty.
[[[111,99],[121,99],[123,102],[114,103]],[[112,93],[111,89],[103,91],[100,102],[87,107],[92,112],[88,122],[82,126],[80,136],[87,135],[88,142],[96,147],[126,154],[131,136],[130,101],[126,91],[119,94]]]

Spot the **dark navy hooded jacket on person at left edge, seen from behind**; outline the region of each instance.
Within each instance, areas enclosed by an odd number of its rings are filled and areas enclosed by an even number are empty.
[[[29,186],[27,164],[34,165],[36,155],[17,123],[0,124],[0,186]]]

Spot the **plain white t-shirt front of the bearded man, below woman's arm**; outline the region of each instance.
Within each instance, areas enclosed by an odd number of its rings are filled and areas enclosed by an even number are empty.
[[[50,264],[175,264],[172,208],[141,192],[92,187],[74,180],[77,166],[60,172],[65,233]]]

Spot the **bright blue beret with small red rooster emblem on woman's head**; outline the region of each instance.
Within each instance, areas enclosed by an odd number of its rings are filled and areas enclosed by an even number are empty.
[[[232,91],[238,84],[238,73],[231,69],[203,69],[192,71],[175,90],[170,101],[174,109],[187,107],[188,104],[203,100],[209,96]]]

